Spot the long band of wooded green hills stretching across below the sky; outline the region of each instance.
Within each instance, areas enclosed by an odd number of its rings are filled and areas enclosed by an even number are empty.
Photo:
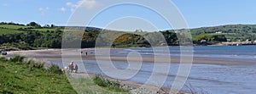
[[[182,33],[186,30],[163,30],[160,32],[122,32],[113,30],[102,30],[94,27],[68,27],[73,28],[65,33],[68,35],[67,42],[80,41],[81,47],[151,47],[151,46],[177,46],[183,42],[177,40],[177,36],[189,40],[188,36]],[[31,22],[27,25],[15,23],[0,23],[0,45],[5,50],[28,50],[42,47],[61,48],[62,35],[65,27],[55,25],[38,25]],[[215,27],[202,27],[191,29],[193,42],[198,43],[202,40],[208,44],[220,43],[222,41],[254,41],[256,40],[256,25],[222,25]],[[81,32],[84,34],[81,34]],[[166,39],[160,41],[159,34],[163,34]],[[114,39],[111,39],[111,37]],[[153,39],[153,40],[152,40]],[[151,44],[151,45],[150,45]],[[152,45],[153,44],[153,45]]]

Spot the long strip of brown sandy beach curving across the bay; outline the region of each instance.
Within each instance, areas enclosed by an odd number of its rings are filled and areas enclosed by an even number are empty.
[[[7,57],[13,57],[15,55],[25,56],[27,58],[35,58],[38,61],[62,61],[62,58],[70,58],[70,59],[79,59],[82,58],[83,60],[112,60],[112,61],[133,61],[133,62],[142,62],[143,63],[173,63],[178,64],[180,63],[179,57],[163,57],[163,56],[156,56],[156,57],[143,57],[137,58],[135,57],[124,57],[124,56],[98,56],[95,55],[94,48],[86,48],[81,49],[82,51],[92,52],[85,55],[85,53],[79,53],[78,49],[65,49],[62,50],[64,52],[61,53],[61,49],[44,49],[44,50],[30,50],[30,51],[13,51],[8,52]],[[65,53],[66,52],[66,53]],[[74,52],[74,53],[67,53],[67,52]],[[193,63],[193,64],[252,64],[247,63],[244,61],[228,61],[224,59],[218,58],[189,58],[189,61],[186,63]],[[185,63],[185,64],[186,64]]]

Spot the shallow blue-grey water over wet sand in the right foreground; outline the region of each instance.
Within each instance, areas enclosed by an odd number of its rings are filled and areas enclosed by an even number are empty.
[[[75,61],[76,62],[76,61]],[[105,61],[101,61],[104,63]],[[54,62],[54,64],[60,63]],[[113,62],[116,68],[125,69],[128,63],[125,62]],[[137,64],[137,63],[135,63]],[[166,66],[168,64],[161,63],[160,65]],[[84,61],[86,72],[91,74],[105,75],[102,69],[98,67],[96,61],[86,60]],[[80,67],[80,66],[79,66]],[[104,66],[103,66],[104,67]],[[108,65],[105,66],[108,68]],[[154,72],[157,77],[163,78],[167,76],[164,87],[170,88],[177,75],[178,64],[171,64],[171,69],[168,75],[165,72]],[[150,75],[153,73],[154,64],[143,63],[142,68],[139,69],[137,75],[131,77],[131,81],[138,83],[145,83]],[[212,94],[231,94],[231,93],[252,93],[256,91],[256,65],[213,65],[213,64],[193,64],[190,71],[189,78],[186,82],[186,86],[195,89],[198,92],[208,92]],[[111,71],[109,69],[108,71]],[[136,69],[131,69],[131,74],[136,72]],[[166,70],[162,70],[166,71]],[[85,72],[80,70],[79,72]],[[105,75],[108,76],[108,75]],[[117,74],[121,77],[122,75]],[[157,83],[154,83],[157,84]],[[183,90],[188,91],[189,88],[184,86]]]

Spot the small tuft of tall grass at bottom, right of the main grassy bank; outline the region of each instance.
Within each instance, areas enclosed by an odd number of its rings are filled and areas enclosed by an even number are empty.
[[[110,81],[110,80],[104,79],[104,78],[102,78],[101,75],[96,75],[96,77],[93,79],[93,81],[96,85],[105,87],[109,91],[128,92],[128,90],[120,88],[120,84],[118,81]]]

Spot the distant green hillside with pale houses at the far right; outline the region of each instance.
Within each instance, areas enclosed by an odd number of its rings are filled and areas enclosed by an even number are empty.
[[[256,40],[256,25],[220,25],[214,27],[201,27],[191,29],[190,31],[194,36],[194,40],[197,39],[196,36],[201,34],[214,35],[216,32],[224,35],[227,39],[230,39],[230,41],[246,41],[247,39],[251,41]]]

